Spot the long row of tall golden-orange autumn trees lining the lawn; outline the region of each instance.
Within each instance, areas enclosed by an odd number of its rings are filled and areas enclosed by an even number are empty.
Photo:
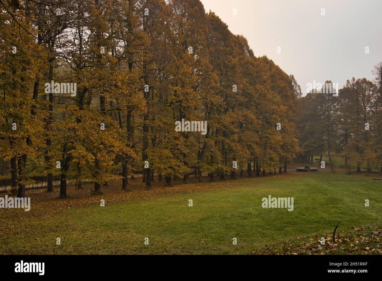
[[[199,0],[1,4],[0,155],[19,197],[31,169],[66,195],[68,178],[99,192],[116,171],[123,189],[137,170],[147,187],[154,172],[235,177],[233,161],[281,171],[298,150],[296,85]],[[176,132],[182,119],[206,134]]]

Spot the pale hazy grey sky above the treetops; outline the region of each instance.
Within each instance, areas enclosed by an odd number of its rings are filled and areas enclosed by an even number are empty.
[[[303,94],[314,80],[332,80],[340,88],[353,76],[373,80],[371,71],[382,61],[382,0],[201,2],[233,34],[246,37],[256,57],[266,55],[293,74]]]

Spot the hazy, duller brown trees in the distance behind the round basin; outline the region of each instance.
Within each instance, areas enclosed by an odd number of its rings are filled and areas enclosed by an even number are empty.
[[[333,167],[333,156],[339,155],[345,167],[382,172],[382,62],[372,72],[374,83],[353,77],[337,89],[338,96],[311,91],[299,99],[299,141],[311,162],[313,155],[321,162],[327,154]]]

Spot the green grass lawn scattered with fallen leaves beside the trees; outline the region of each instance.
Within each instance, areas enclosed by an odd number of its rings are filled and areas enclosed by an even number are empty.
[[[294,210],[262,208],[268,195],[294,197]],[[339,231],[374,225],[381,214],[382,185],[371,177],[273,175],[218,190],[52,210],[48,219],[0,226],[0,254],[249,254],[278,241],[333,231],[338,221]]]

